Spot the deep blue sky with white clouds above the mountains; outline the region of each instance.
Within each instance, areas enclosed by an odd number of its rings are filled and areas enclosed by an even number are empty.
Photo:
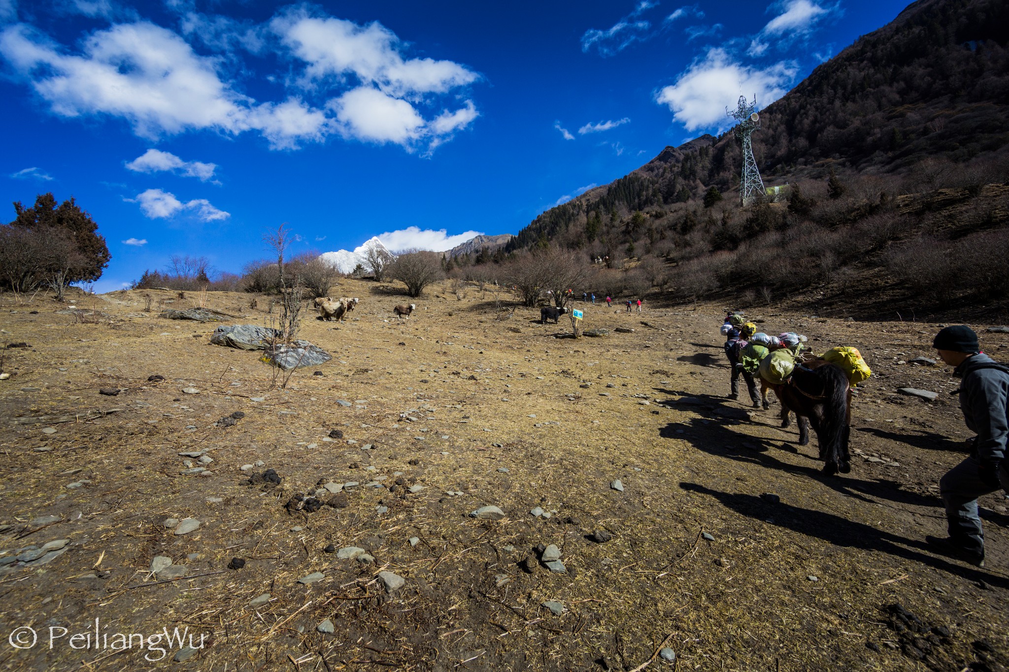
[[[282,222],[296,252],[448,249],[726,129],[903,7],[0,0],[0,201],[75,196],[103,291],[175,254],[237,272]]]

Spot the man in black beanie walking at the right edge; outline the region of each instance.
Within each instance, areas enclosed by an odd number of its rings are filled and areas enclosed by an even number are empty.
[[[1009,367],[980,351],[978,334],[970,326],[946,326],[932,347],[963,379],[960,409],[971,431],[971,455],[939,481],[945,503],[949,536],[926,537],[934,550],[971,564],[985,565],[985,535],[978,516],[978,498],[1009,490],[1005,461],[1009,440]]]

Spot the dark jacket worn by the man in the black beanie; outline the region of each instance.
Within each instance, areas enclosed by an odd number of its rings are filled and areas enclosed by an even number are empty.
[[[964,360],[954,372],[963,379],[960,410],[968,428],[978,435],[975,450],[982,464],[991,465],[1006,456],[1009,440],[1009,374],[983,365],[995,360],[979,353]]]

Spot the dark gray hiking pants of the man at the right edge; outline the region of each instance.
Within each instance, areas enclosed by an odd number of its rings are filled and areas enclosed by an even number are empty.
[[[945,503],[949,537],[969,551],[984,554],[985,533],[978,516],[978,498],[997,492],[981,480],[981,462],[973,455],[946,472],[939,480],[939,494]],[[1009,490],[1009,473],[999,466],[999,482]]]

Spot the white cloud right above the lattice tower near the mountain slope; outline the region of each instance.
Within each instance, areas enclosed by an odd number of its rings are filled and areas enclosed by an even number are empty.
[[[688,131],[699,128],[722,130],[732,125],[725,107],[735,106],[740,94],[757,95],[761,106],[781,98],[795,79],[793,62],[780,61],[765,69],[744,65],[724,49],[709,49],[680,74],[676,83],[662,88],[656,102],[673,112],[673,119]]]

